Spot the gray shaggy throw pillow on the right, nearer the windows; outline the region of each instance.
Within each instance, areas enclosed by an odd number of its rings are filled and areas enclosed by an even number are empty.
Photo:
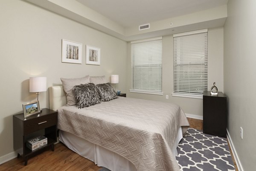
[[[117,98],[116,92],[110,83],[97,84],[96,88],[98,89],[101,101],[110,101]]]

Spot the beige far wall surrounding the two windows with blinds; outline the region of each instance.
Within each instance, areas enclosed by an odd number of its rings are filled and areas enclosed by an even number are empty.
[[[127,82],[131,82],[131,43],[127,43]],[[219,91],[223,91],[223,27],[208,29],[208,90],[213,82]],[[163,36],[163,96],[130,93],[131,85],[127,86],[127,96],[179,104],[185,113],[203,116],[202,99],[174,97],[173,92],[173,36]],[[169,95],[169,99],[166,99]]]

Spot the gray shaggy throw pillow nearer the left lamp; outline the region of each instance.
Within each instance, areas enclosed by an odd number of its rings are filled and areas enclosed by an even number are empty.
[[[93,83],[76,85],[72,91],[79,109],[100,103],[99,93]]]

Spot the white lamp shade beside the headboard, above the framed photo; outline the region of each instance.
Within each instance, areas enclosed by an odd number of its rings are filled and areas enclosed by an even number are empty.
[[[47,90],[46,77],[30,77],[29,92],[42,92]]]

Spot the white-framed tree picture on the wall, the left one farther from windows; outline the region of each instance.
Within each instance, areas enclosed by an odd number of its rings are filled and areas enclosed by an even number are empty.
[[[82,64],[82,43],[62,39],[61,62]]]

